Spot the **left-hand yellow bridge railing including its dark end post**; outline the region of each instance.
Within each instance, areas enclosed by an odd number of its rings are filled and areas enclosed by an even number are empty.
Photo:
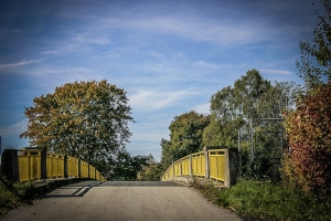
[[[66,155],[55,152],[43,155],[39,149],[6,149],[1,157],[1,173],[4,171],[13,181],[58,178],[90,178],[106,181],[95,167]]]

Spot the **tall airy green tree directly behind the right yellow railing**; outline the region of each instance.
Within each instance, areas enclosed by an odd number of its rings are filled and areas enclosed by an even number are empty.
[[[250,70],[233,87],[224,87],[212,95],[211,124],[204,131],[204,143],[234,146],[237,144],[238,129],[247,136],[250,133],[247,123],[259,116],[259,99],[270,87],[271,84],[258,71]]]

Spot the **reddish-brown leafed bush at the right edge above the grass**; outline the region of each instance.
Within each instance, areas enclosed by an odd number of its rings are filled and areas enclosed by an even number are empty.
[[[287,112],[290,155],[284,171],[290,185],[316,194],[331,193],[331,82],[308,94]]]

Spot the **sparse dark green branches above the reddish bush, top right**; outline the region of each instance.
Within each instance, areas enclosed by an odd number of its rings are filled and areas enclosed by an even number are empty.
[[[301,60],[297,61],[297,67],[308,88],[331,80],[331,1],[321,0],[321,4],[324,13],[317,11],[319,22],[312,43],[301,41],[299,44]]]

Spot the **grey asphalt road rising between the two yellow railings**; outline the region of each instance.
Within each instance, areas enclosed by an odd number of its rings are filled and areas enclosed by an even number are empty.
[[[1,220],[242,220],[175,182],[86,181],[57,189]]]

